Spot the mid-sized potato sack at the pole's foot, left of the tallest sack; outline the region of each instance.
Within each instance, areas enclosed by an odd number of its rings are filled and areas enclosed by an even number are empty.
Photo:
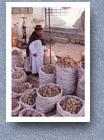
[[[47,83],[55,83],[55,67],[46,65],[39,70],[39,86]]]

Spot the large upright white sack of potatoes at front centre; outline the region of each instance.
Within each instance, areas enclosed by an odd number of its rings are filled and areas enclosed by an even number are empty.
[[[49,83],[39,87],[36,98],[36,110],[42,113],[52,111],[56,103],[62,98],[62,88],[54,83]]]

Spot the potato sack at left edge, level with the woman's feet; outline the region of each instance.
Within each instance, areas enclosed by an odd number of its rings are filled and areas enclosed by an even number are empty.
[[[12,86],[26,82],[28,77],[24,71],[15,71],[12,73]]]

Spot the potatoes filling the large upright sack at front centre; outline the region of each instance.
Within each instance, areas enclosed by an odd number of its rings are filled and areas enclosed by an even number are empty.
[[[40,87],[38,92],[43,97],[54,97],[60,94],[61,89],[53,84],[46,84],[45,86]]]

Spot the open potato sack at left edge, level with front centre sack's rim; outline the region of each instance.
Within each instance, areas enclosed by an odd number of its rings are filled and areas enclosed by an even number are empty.
[[[32,89],[32,85],[30,83],[20,83],[16,86],[12,87],[12,96],[14,98],[19,98],[21,97],[23,94],[25,94],[27,91],[29,91],[30,89]]]

